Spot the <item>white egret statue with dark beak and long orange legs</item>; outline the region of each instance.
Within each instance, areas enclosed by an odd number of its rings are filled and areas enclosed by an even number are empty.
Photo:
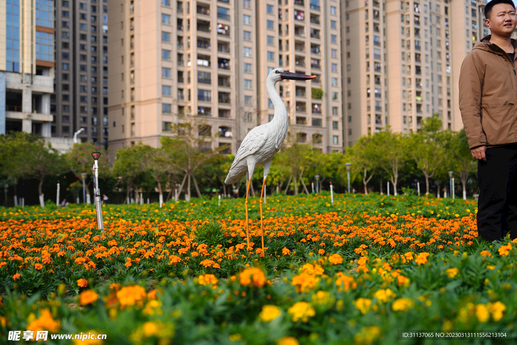
[[[248,187],[246,189],[246,242],[248,250],[250,249],[250,234],[248,230],[248,194],[250,191],[251,178],[255,167],[264,167],[264,181],[262,182],[262,191],[260,196],[260,220],[261,220],[261,236],[262,236],[262,254],[264,256],[264,218],[262,214],[262,200],[264,194],[264,185],[266,177],[271,167],[271,158],[279,151],[289,126],[289,117],[287,109],[278,95],[275,84],[284,79],[290,80],[309,80],[316,76],[307,76],[306,74],[291,73],[283,68],[273,69],[266,81],[266,88],[269,98],[275,107],[275,116],[271,122],[257,126],[250,130],[237,151],[237,155],[232,163],[232,167],[228,172],[228,176],[224,180],[227,185],[236,183],[239,178],[248,173]]]

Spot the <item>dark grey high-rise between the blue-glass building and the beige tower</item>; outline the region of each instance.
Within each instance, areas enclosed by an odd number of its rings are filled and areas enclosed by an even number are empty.
[[[107,145],[108,1],[56,0],[55,17],[52,136],[71,138],[83,128],[78,140]]]

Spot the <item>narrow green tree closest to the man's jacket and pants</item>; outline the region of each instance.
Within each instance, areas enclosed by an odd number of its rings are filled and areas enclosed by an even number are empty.
[[[453,171],[458,172],[463,186],[463,200],[467,200],[467,180],[468,175],[476,170],[477,161],[468,146],[468,139],[465,129],[462,128],[452,137],[451,151],[453,152]]]

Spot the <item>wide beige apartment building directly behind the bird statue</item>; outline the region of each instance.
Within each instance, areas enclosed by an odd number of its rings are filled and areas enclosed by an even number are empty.
[[[197,114],[235,154],[274,115],[270,70],[317,74],[277,92],[301,142],[342,148],[339,3],[197,0],[108,4],[109,146],[160,145],[183,114]],[[315,92],[312,89],[322,89]],[[207,147],[208,148],[208,147]]]

